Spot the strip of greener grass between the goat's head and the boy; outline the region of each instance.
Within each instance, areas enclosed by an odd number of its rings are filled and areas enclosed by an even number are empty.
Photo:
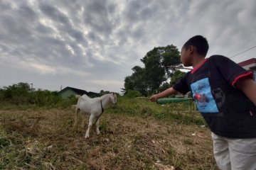
[[[190,106],[192,108],[190,108]],[[206,125],[201,114],[198,113],[198,111],[192,110],[193,104],[191,105],[190,101],[158,105],[150,102],[148,98],[127,99],[119,97],[117,105],[109,106],[107,113],[139,116],[141,118],[152,116],[159,120],[174,120],[177,123],[185,125]]]

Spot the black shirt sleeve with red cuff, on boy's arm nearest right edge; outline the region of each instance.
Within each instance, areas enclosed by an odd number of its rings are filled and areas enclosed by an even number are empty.
[[[215,55],[213,56],[213,61],[218,67],[220,73],[223,75],[224,79],[233,86],[235,86],[236,82],[241,78],[253,78],[252,72],[247,72],[244,68],[240,67],[240,65],[236,64],[228,57]]]

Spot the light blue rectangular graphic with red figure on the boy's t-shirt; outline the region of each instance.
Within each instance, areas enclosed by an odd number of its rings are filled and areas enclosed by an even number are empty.
[[[211,94],[209,79],[201,79],[191,84],[193,98],[201,113],[218,113],[218,108]]]

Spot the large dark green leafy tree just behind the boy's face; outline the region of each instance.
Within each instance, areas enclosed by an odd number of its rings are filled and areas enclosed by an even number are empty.
[[[125,77],[124,93],[137,90],[144,96],[153,94],[172,76],[174,69],[170,66],[181,65],[180,52],[174,45],[154,47],[141,61],[144,68],[135,66],[132,68],[134,73]],[[166,84],[163,88],[166,88]]]

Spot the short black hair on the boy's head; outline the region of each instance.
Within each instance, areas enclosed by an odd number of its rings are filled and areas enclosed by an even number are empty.
[[[188,49],[190,45],[196,47],[196,51],[199,55],[206,55],[209,49],[208,41],[202,35],[193,36],[183,45],[183,47]]]

